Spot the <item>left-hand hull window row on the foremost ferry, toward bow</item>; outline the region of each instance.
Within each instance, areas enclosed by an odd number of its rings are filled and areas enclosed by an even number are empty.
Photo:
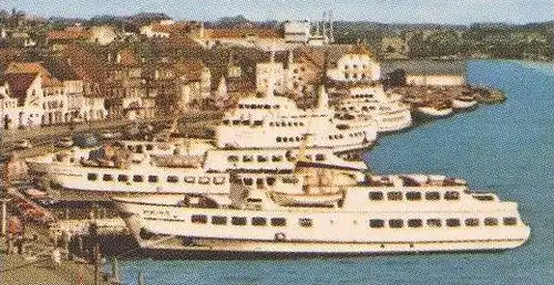
[[[191,222],[192,223],[197,223],[197,224],[207,224],[208,220],[212,224],[215,225],[226,225],[230,222],[232,225],[247,225],[248,224],[248,219],[246,217],[228,217],[225,215],[212,215],[208,217],[205,214],[193,214],[191,215]],[[306,220],[309,220],[306,221]],[[300,225],[302,226],[311,226],[307,224],[311,224],[310,219],[300,219],[299,220]],[[270,218],[267,219],[265,217],[253,217],[250,218],[250,225],[255,226],[266,226],[266,225],[271,225],[271,226],[286,226],[287,225],[287,220],[285,218]]]

